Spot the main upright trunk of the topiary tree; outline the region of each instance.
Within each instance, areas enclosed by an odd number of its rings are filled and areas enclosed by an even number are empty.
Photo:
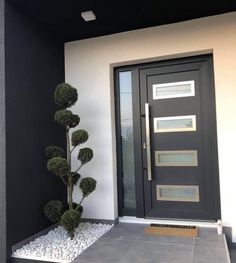
[[[66,145],[67,145],[67,163],[69,166],[69,172],[68,172],[68,203],[69,203],[69,209],[73,209],[73,184],[72,184],[72,174],[71,174],[71,152],[70,152],[70,135],[69,135],[69,127],[66,127]]]

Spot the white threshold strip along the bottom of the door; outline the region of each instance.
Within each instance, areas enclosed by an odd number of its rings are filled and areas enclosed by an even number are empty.
[[[133,216],[119,217],[119,223],[134,223],[134,224],[166,224],[180,226],[197,226],[206,228],[217,228],[217,222],[193,221],[193,220],[171,220],[171,219],[147,219],[137,218]]]

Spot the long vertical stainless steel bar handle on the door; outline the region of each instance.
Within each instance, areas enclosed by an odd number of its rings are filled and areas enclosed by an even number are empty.
[[[148,181],[152,181],[149,104],[148,103],[145,103],[145,123],[146,123],[147,173],[148,173]]]

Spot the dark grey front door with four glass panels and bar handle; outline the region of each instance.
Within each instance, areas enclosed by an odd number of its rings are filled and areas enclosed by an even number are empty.
[[[139,80],[145,217],[217,220],[211,57],[141,67]]]

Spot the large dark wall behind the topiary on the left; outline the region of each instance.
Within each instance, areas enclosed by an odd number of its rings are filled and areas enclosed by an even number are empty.
[[[47,201],[66,199],[64,185],[46,171],[44,157],[45,146],[65,145],[64,131],[53,121],[52,100],[54,88],[63,80],[63,42],[6,2],[8,256],[13,244],[50,225],[42,212]]]

